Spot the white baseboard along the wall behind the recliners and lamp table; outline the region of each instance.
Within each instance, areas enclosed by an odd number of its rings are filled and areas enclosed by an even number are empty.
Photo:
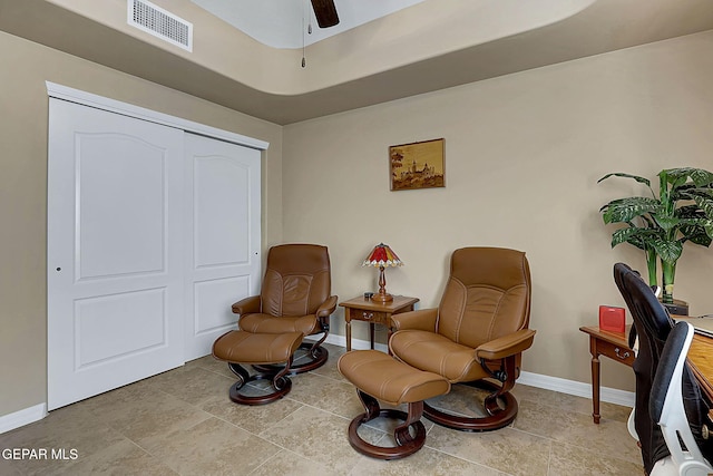
[[[346,347],[346,338],[344,336],[329,334],[325,342],[334,346]],[[352,349],[369,349],[368,340],[352,339]],[[374,344],[377,350],[388,351],[388,347],[383,343]],[[560,379],[558,377],[549,377],[541,373],[520,372],[517,379],[518,383],[529,385],[530,387],[543,388],[545,390],[559,391],[561,394],[574,395],[592,399],[592,383],[584,383],[575,380]],[[599,389],[600,401],[622,405],[624,407],[634,407],[636,394],[633,391],[618,390],[616,388],[602,387]]]

